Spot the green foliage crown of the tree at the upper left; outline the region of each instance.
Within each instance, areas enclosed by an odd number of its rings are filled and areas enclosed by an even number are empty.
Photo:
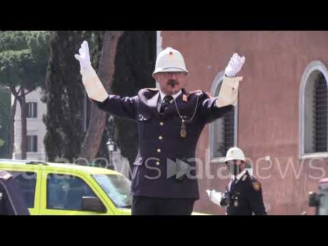
[[[49,32],[5,31],[0,33],[0,83],[25,84],[26,90],[44,86],[49,59]]]

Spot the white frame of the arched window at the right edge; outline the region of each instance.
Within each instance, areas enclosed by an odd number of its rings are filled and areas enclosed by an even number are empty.
[[[305,87],[306,83],[312,72],[318,70],[323,73],[325,80],[328,83],[328,70],[325,64],[321,61],[311,61],[310,64],[305,68],[302,77],[301,85],[299,87],[299,159],[313,159],[313,158],[328,158],[328,152],[320,153],[305,153],[304,152],[304,142],[305,142]]]

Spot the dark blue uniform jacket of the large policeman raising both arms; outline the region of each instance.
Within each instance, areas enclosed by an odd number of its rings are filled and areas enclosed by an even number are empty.
[[[202,91],[188,94],[182,89],[176,98],[180,115],[189,120],[196,108],[195,117],[186,123],[187,136],[182,138],[182,123],[175,103],[172,102],[165,113],[159,115],[156,94],[159,94],[157,89],[142,89],[134,97],[111,95],[104,102],[94,102],[108,113],[137,122],[139,152],[133,163],[133,195],[198,199],[195,161],[191,160],[195,158],[197,141],[206,124],[221,118],[233,106],[218,108],[216,98],[210,98]],[[177,159],[192,167],[190,175],[182,180],[171,175],[172,161]]]

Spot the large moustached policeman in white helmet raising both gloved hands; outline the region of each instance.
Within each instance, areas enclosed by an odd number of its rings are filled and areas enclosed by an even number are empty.
[[[191,215],[199,199],[195,149],[204,126],[231,111],[238,98],[236,77],[245,57],[234,54],[226,68],[219,96],[201,90],[187,92],[187,70],[182,54],[172,48],[159,53],[154,79],[160,88],[142,89],[136,96],[107,94],[91,66],[84,41],[75,55],[83,85],[98,107],[137,122],[139,151],[133,163],[133,215]]]

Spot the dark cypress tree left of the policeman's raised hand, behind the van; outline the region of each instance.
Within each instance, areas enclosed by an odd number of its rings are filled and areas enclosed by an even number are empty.
[[[73,161],[81,152],[83,142],[83,100],[79,62],[74,54],[83,40],[94,50],[94,31],[51,31],[51,55],[42,101],[47,105],[44,115],[46,135],[44,147],[49,161]]]

